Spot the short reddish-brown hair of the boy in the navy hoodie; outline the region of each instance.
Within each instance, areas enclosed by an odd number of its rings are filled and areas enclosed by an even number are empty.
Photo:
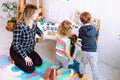
[[[80,20],[83,24],[87,24],[87,23],[90,23],[90,20],[91,20],[91,15],[89,12],[83,12],[81,13],[80,15]]]

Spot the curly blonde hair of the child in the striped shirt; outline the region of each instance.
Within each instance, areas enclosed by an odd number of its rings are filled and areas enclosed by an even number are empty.
[[[59,36],[70,36],[72,32],[72,23],[68,20],[64,20],[59,26],[58,26],[58,35]]]

